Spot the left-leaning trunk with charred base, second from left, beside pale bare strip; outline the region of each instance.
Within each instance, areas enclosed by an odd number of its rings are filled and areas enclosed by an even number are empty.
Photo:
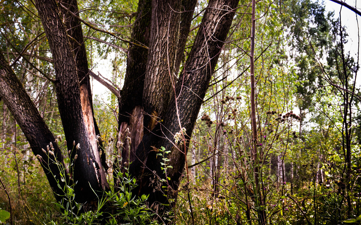
[[[102,183],[101,165],[93,154],[84,123],[75,57],[66,27],[59,16],[57,2],[35,0],[35,3],[54,59],[57,102],[68,150],[72,150],[71,158],[78,155],[74,170],[70,171],[74,181],[77,181],[75,198],[77,202],[89,202],[96,198],[93,190],[101,191],[107,184]],[[75,149],[73,141],[75,145],[80,144],[80,149]]]

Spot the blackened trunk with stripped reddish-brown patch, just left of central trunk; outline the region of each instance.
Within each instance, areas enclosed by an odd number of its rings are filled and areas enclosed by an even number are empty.
[[[151,23],[152,1],[138,2],[137,19],[132,31],[132,40],[149,45],[149,26]],[[143,138],[143,89],[147,67],[148,50],[131,45],[127,57],[127,69],[124,86],[119,99],[118,156],[114,162],[114,184],[117,184],[117,173],[128,166],[135,158],[135,150]],[[127,141],[127,137],[130,141]],[[121,156],[121,157],[120,157]],[[122,158],[122,161],[118,160]],[[122,170],[123,171],[123,170]]]

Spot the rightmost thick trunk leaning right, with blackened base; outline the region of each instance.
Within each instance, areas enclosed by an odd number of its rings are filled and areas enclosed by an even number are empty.
[[[189,142],[186,141],[186,149],[184,149],[184,145],[178,143],[176,146],[174,144],[173,136],[181,130],[181,127],[184,127],[186,128],[184,134],[186,138],[191,137],[212,72],[235,14],[234,11],[228,10],[235,9],[237,4],[238,0],[209,2],[184,72],[181,73],[175,87],[176,94],[171,95],[173,97],[171,97],[168,110],[164,115],[164,122],[162,125],[158,124],[152,133],[144,135],[143,141],[136,151],[138,158],[130,165],[130,171],[139,180],[139,194],[151,194],[155,191],[149,197],[150,203],[167,203],[168,199],[164,197],[164,193],[169,197],[174,197],[172,190],[178,189]],[[160,168],[160,163],[163,162],[162,157],[157,157],[156,151],[152,151],[151,146],[157,148],[164,146],[166,150],[171,150],[169,154],[165,155],[165,158],[170,159],[169,165],[173,167],[167,169],[170,181],[168,184],[160,185],[168,186],[168,189],[156,190],[157,182],[151,182],[155,177],[165,177],[164,171]],[[156,171],[156,175],[153,174],[153,171]],[[149,186],[153,188],[149,188]]]

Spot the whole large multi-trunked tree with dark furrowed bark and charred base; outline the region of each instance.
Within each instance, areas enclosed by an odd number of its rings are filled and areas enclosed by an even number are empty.
[[[150,204],[168,203],[167,195],[175,197],[173,190],[178,189],[185,168],[192,130],[238,1],[209,1],[182,71],[179,68],[196,0],[139,0],[131,38],[124,40],[108,32],[129,43],[123,88],[112,89],[119,102],[116,149],[119,157],[113,165],[116,186],[117,175],[127,168],[137,179],[134,194],[151,194]],[[77,155],[74,168],[64,175],[65,181],[77,182],[74,189],[77,202],[92,202],[97,193],[109,189],[109,184],[92,107],[90,75],[96,75],[88,66],[81,25],[100,29],[79,17],[76,0],[35,0],[35,6],[52,53],[59,113],[68,150],[74,149],[70,151],[71,160]],[[21,127],[34,155],[41,158],[55,198],[61,201],[66,182],[60,179],[62,171],[48,158],[64,163],[61,150],[3,55],[0,56],[0,97]],[[177,132],[180,141],[175,143]],[[54,155],[42,150],[50,142]],[[79,144],[79,148],[74,148],[73,143]],[[171,166],[167,175],[161,169],[163,157],[157,157],[156,150],[161,147],[170,151],[164,155]],[[169,181],[159,185],[165,176]]]

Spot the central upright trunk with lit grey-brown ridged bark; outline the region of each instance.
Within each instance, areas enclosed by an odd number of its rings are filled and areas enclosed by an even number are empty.
[[[153,0],[151,36],[145,72],[143,106],[144,126],[150,131],[160,121],[169,104],[175,84],[181,8],[178,0]],[[150,115],[150,116],[149,116]]]

